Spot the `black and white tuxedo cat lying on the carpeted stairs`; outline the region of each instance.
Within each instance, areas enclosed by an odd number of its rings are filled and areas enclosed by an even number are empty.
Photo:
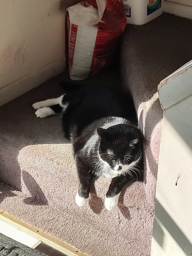
[[[36,102],[33,108],[40,118],[62,112],[64,133],[73,144],[79,179],[77,205],[82,207],[88,202],[94,177],[105,177],[111,180],[105,207],[112,211],[123,186],[142,174],[139,165],[143,139],[136,127],[132,99],[111,86],[82,86],[59,98]]]

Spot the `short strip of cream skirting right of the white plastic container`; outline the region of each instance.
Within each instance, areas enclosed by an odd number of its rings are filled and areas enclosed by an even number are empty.
[[[164,0],[163,11],[192,19],[192,0]]]

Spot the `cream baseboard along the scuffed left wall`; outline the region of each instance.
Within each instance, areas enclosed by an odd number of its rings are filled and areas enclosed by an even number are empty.
[[[65,70],[65,63],[65,57],[61,57],[0,88],[0,106],[59,75]]]

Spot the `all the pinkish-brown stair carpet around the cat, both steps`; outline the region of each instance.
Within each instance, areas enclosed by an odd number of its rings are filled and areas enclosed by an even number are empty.
[[[166,14],[143,26],[128,25],[121,47],[122,82],[114,70],[84,81],[122,84],[133,94],[146,140],[144,183],[129,183],[118,208],[108,212],[109,181],[99,179],[89,204],[76,206],[78,181],[60,118],[36,118],[31,107],[63,92],[57,82],[68,78],[61,75],[0,108],[0,209],[87,255],[149,256],[162,119],[157,85],[192,58],[191,25]]]

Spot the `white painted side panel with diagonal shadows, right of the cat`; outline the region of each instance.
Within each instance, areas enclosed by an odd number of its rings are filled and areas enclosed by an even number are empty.
[[[159,87],[164,116],[151,256],[192,255],[191,81],[192,61]]]

